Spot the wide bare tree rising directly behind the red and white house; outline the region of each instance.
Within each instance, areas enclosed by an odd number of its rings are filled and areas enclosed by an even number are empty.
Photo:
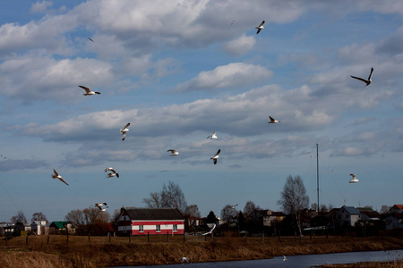
[[[186,210],[186,200],[184,198],[184,192],[173,181],[169,181],[168,185],[162,187],[160,192],[151,192],[149,198],[143,198],[142,202],[150,208],[159,207],[172,207],[177,208],[182,213]]]

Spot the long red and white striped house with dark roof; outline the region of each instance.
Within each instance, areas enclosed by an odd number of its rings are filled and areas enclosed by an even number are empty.
[[[117,219],[118,235],[184,234],[184,216],[177,208],[124,208]]]

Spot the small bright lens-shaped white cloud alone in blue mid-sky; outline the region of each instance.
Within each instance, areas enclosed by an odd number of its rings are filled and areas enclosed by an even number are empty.
[[[250,87],[270,80],[272,75],[272,71],[261,65],[229,63],[212,71],[201,71],[197,77],[178,85],[176,91]]]

